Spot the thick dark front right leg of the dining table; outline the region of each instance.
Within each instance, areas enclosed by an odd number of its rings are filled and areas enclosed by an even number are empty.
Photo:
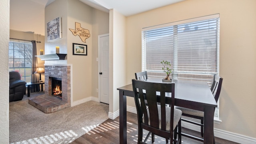
[[[214,142],[214,107],[204,106],[204,144],[213,144]]]

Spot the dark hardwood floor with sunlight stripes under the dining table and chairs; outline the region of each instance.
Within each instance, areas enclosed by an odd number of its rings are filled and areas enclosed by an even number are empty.
[[[127,112],[127,144],[137,144],[137,128],[137,115]],[[186,128],[182,128],[182,132],[200,136],[200,132],[195,132]],[[144,134],[146,137],[147,132],[145,131]],[[216,144],[237,144],[220,138],[215,138],[215,141]],[[151,138],[148,138],[147,143],[151,144]],[[115,120],[106,120],[70,144],[119,144],[119,117]],[[166,142],[164,138],[155,136],[154,144],[166,144]],[[203,144],[203,142],[182,136],[182,144]]]

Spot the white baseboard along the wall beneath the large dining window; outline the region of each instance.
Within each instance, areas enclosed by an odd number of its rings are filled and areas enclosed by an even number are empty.
[[[127,106],[127,112],[132,112],[134,114],[137,114],[136,108],[130,107],[130,106]],[[201,132],[200,126],[191,124],[189,122],[183,122],[182,121],[181,125],[184,128],[188,128],[188,129],[191,129],[191,130],[195,130],[197,132]],[[214,128],[214,136],[218,137],[218,138],[225,139],[225,140],[229,140],[229,141],[232,141],[232,142],[237,142],[239,144],[256,144],[256,138],[252,138],[252,137],[249,137],[249,136],[244,136],[244,135],[241,135],[241,134],[236,134],[236,133],[233,133],[233,132],[228,132],[228,131],[225,131],[225,130],[220,130],[220,129],[217,129],[217,128]]]

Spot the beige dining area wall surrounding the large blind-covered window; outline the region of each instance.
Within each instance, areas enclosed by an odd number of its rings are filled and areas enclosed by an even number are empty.
[[[214,128],[256,136],[256,1],[186,0],[127,17],[126,81],[141,71],[141,30],[210,14],[220,14],[220,124]],[[133,106],[132,100],[128,106]]]

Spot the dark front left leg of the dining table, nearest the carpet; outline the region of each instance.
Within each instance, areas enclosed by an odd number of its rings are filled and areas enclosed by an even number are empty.
[[[120,144],[127,144],[126,96],[119,90]]]

